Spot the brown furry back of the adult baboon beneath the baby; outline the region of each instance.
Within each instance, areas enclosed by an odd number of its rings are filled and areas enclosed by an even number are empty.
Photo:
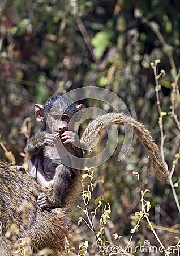
[[[25,238],[34,252],[49,247],[54,255],[61,255],[65,236],[70,240],[72,234],[69,210],[42,210],[36,203],[40,192],[30,177],[0,161],[0,256],[12,255],[8,242]]]

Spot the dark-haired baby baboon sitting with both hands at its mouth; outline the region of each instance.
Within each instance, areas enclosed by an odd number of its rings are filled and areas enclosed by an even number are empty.
[[[72,117],[73,122],[79,121],[82,109],[82,104],[75,104],[60,95],[49,98],[45,106],[35,104],[36,121],[43,125],[27,144],[27,152],[31,155],[28,175],[42,188],[53,185],[52,196],[44,192],[38,196],[37,204],[42,208],[65,206],[70,187],[79,180],[80,171],[71,167],[73,156],[83,158],[83,150],[78,136],[68,130],[68,125]],[[78,163],[76,166],[83,169]]]

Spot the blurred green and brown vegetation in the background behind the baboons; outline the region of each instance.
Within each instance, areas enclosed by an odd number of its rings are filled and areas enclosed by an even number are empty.
[[[99,86],[117,94],[132,117],[143,122],[160,144],[155,77],[150,65],[160,59],[157,73],[161,69],[166,72],[158,81],[161,110],[165,113],[164,154],[171,170],[175,156],[178,157],[180,138],[179,126],[172,117],[173,95],[175,113],[180,115],[178,84],[175,94],[172,90],[180,66],[178,0],[1,0],[0,30],[1,142],[12,151],[16,163],[24,163],[30,122],[25,118],[31,118],[32,133],[36,126],[33,105],[44,104],[54,93],[82,86]],[[83,103],[99,106],[96,101]],[[161,226],[158,235],[165,246],[174,245],[175,237],[180,236],[180,222],[170,185],[155,179],[152,165],[136,137],[130,152],[119,163],[122,142],[119,139],[117,152],[94,174],[93,198],[103,195],[104,201],[112,206],[106,236],[121,234],[119,243],[127,245],[136,223],[132,216],[140,209],[139,182],[132,175],[136,171],[142,188],[151,189],[146,199],[151,201],[153,225]],[[0,157],[7,159],[2,147]],[[177,163],[173,183],[178,196],[179,181]],[[93,234],[87,233],[86,225],[76,226],[80,214],[79,209],[72,214],[76,249],[80,241],[88,240],[91,245],[95,241]],[[147,223],[142,221],[134,235],[134,245],[145,239],[158,245]],[[89,252],[96,255],[93,246]]]

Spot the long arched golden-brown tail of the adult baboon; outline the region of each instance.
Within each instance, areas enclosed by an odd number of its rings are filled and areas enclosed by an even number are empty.
[[[164,163],[162,162],[160,150],[157,144],[154,142],[149,131],[142,123],[136,121],[131,117],[128,117],[123,113],[108,113],[105,115],[101,115],[94,119],[91,123],[89,123],[89,125],[82,134],[82,138],[80,139],[80,141],[87,148],[87,153],[85,156],[87,157],[88,154],[91,153],[91,148],[93,146],[93,142],[95,141],[97,133],[105,129],[106,126],[114,124],[126,126],[129,129],[134,130],[140,142],[142,142],[145,150],[148,152],[157,179],[160,181],[165,181],[166,179],[168,179],[168,171],[166,170]]]

